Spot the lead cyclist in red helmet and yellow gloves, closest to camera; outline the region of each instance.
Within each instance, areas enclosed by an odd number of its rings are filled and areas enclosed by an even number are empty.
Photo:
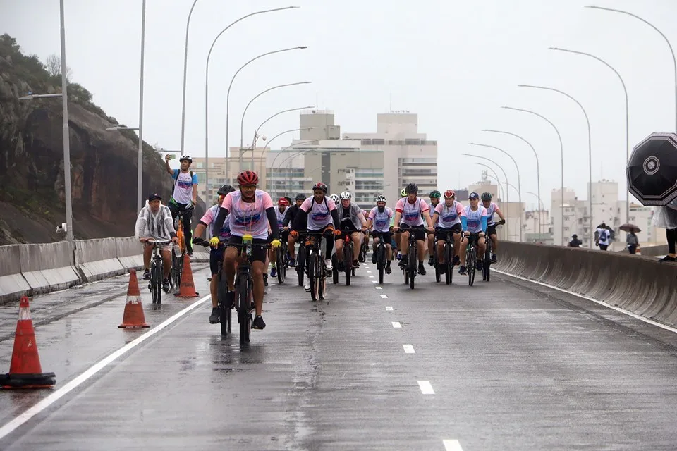
[[[276,249],[281,245],[279,240],[279,228],[277,228],[277,216],[270,194],[263,190],[257,190],[259,176],[254,171],[242,171],[238,174],[239,191],[231,192],[224,198],[219,215],[214,221],[212,239],[209,244],[212,247],[219,245],[219,233],[223,228],[226,216],[230,214],[228,221],[231,226],[231,238],[228,241],[233,245],[241,245],[243,235],[249,234],[254,238],[255,245],[265,244],[268,240],[268,228],[270,228],[271,247]],[[240,248],[227,247],[224,257],[224,275],[228,283],[228,299],[226,302],[235,302],[235,261],[240,254]],[[261,311],[263,307],[263,273],[266,261],[266,251],[262,247],[252,248],[252,280],[254,282],[253,297],[256,309],[252,328],[263,329],[266,323],[263,321]]]

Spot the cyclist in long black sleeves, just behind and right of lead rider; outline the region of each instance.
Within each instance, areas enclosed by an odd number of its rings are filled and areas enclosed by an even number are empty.
[[[315,183],[312,187],[312,198],[305,199],[301,204],[290,235],[298,236],[298,230],[307,230],[309,233],[322,232],[324,235],[341,234],[338,230],[338,210],[331,199],[327,199],[327,185],[322,182]],[[327,247],[324,254],[324,266],[331,269],[331,251],[334,249],[334,240],[327,237]],[[310,280],[306,280],[304,286],[310,290]]]

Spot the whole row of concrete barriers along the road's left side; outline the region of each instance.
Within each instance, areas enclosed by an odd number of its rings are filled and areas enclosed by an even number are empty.
[[[209,261],[209,254],[194,252],[191,261]],[[142,245],[135,237],[0,246],[0,303],[142,267]]]

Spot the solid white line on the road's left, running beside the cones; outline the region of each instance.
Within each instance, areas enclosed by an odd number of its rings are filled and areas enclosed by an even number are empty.
[[[37,402],[37,404],[35,404],[33,407],[26,410],[12,421],[9,421],[7,424],[2,426],[0,428],[0,439],[6,437],[6,435],[8,435],[9,433],[12,433],[14,430],[16,430],[16,428],[24,424],[26,421],[32,419],[33,416],[39,414],[44,409],[47,409],[47,407],[51,406],[51,404],[54,404],[54,402],[60,400],[63,396],[68,395],[68,393],[71,392],[71,390],[77,388],[78,385],[87,381],[87,379],[91,378],[92,376],[94,376],[94,374],[104,369],[106,366],[111,364],[111,362],[114,362],[116,359],[118,359],[118,357],[121,357],[130,350],[133,350],[142,342],[145,342],[145,340],[148,340],[153,335],[158,333],[160,330],[166,328],[171,323],[181,318],[181,316],[187,314],[189,311],[197,307],[200,307],[200,305],[204,304],[205,301],[207,301],[207,299],[211,299],[211,296],[207,295],[205,297],[202,297],[202,299],[198,299],[197,301],[193,302],[193,304],[190,304],[188,307],[185,307],[185,309],[178,311],[178,313],[174,314],[173,316],[170,316],[164,322],[160,323],[157,327],[148,330],[140,337],[129,342],[127,345],[124,345],[123,347],[113,352],[112,354],[109,354],[107,357],[104,357],[103,359],[99,360],[99,362],[97,362],[96,364],[90,366],[90,368],[85,370],[85,372],[80,374],[80,376],[74,378],[71,382],[67,383],[66,385],[63,385],[63,387],[57,389],[56,391],[54,391],[54,393],[52,393],[48,397],[45,397],[43,400]]]

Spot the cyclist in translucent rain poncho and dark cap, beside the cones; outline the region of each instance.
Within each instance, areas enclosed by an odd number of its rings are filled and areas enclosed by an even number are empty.
[[[148,203],[139,212],[136,218],[136,237],[142,243],[143,247],[143,278],[150,279],[150,257],[153,254],[153,245],[148,240],[171,240],[178,244],[176,232],[174,232],[174,222],[171,220],[171,211],[166,205],[162,205],[162,198],[154,192],[148,197]],[[162,256],[162,289],[168,293],[171,290],[169,286],[169,271],[171,271],[171,245],[160,247]]]

